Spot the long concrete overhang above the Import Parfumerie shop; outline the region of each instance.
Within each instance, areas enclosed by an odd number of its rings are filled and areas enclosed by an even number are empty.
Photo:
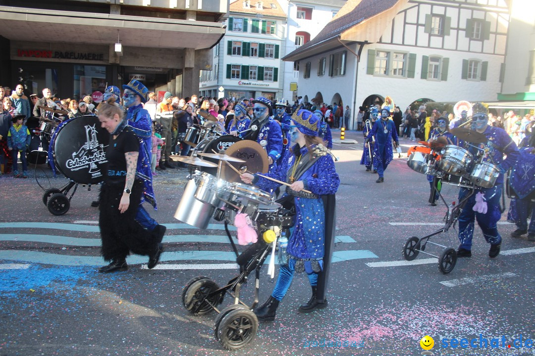
[[[0,35],[17,41],[211,48],[225,34],[223,23],[0,6]],[[157,53],[155,53],[155,56]]]

